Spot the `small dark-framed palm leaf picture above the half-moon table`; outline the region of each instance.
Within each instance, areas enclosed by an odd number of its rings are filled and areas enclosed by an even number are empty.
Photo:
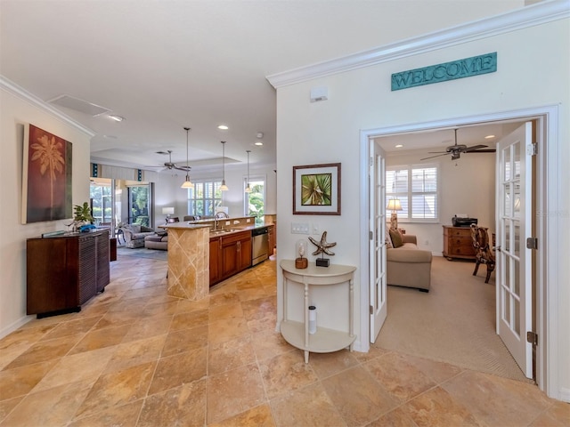
[[[293,166],[293,214],[340,214],[340,163]]]

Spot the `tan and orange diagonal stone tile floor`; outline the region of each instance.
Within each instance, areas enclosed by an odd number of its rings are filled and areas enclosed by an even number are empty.
[[[537,387],[372,347],[303,353],[274,331],[275,262],[167,296],[166,262],[119,257],[79,313],[0,340],[0,426],[563,426]]]

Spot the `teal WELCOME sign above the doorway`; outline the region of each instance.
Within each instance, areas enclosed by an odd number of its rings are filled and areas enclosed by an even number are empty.
[[[392,75],[392,91],[479,76],[495,71],[497,71],[497,52],[485,53],[463,60],[452,60],[443,64],[394,73]]]

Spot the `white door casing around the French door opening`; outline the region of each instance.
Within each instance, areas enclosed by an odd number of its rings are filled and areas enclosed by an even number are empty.
[[[543,209],[548,209],[548,206],[557,205],[555,197],[551,196],[550,190],[552,188],[550,185],[554,185],[555,191],[558,190],[557,183],[557,173],[558,171],[550,170],[546,167],[550,162],[555,162],[557,144],[558,140],[555,135],[558,133],[557,126],[558,109],[557,107],[545,107],[542,109],[526,109],[519,111],[511,111],[504,113],[496,113],[485,116],[475,116],[475,117],[460,117],[446,119],[438,122],[430,122],[415,125],[402,125],[402,126],[392,126],[377,129],[370,129],[361,132],[361,194],[371,194],[368,182],[368,164],[370,157],[369,145],[371,139],[379,138],[387,135],[403,134],[403,133],[420,133],[420,132],[433,132],[437,129],[452,128],[457,126],[467,126],[467,125],[483,125],[483,124],[493,124],[498,122],[523,122],[535,119],[537,121],[537,142],[539,143],[539,156],[536,160],[536,214],[540,212],[545,212]],[[554,136],[553,136],[554,135]],[[549,137],[553,138],[553,141],[549,142]],[[549,187],[546,183],[549,183]],[[368,223],[368,213],[370,203],[375,203],[374,201],[365,200],[362,202],[362,223]],[[533,304],[533,310],[536,315],[536,332],[539,336],[538,347],[536,351],[537,355],[537,383],[542,391],[546,391],[551,397],[556,397],[558,393],[558,381],[556,375],[553,373],[558,372],[559,360],[552,353],[553,342],[551,340],[545,339],[547,334],[547,325],[552,325],[555,322],[552,312],[545,310],[546,307],[554,306],[555,301],[552,299],[552,295],[555,293],[547,286],[546,278],[550,274],[555,274],[558,267],[558,262],[550,261],[546,256],[550,250],[556,250],[557,243],[556,239],[552,242],[548,242],[548,235],[550,234],[550,228],[548,224],[548,218],[543,218],[544,221],[538,221],[536,227],[536,237],[539,241],[545,242],[542,247],[536,251],[536,271],[534,272],[534,277],[536,280],[536,303]],[[368,235],[369,230],[362,230],[362,254],[368,253]],[[362,256],[361,263],[361,293],[362,293],[362,307],[361,307],[361,326],[362,332],[361,336],[370,336],[370,319],[368,318],[368,308],[370,306],[369,292],[368,292],[368,269],[369,269],[369,258],[367,256]],[[385,268],[385,266],[384,266]],[[558,286],[556,280],[550,282],[551,286]],[[389,316],[389,313],[388,313]],[[550,326],[551,328],[551,326]],[[542,340],[540,338],[542,336]],[[370,345],[370,344],[368,344]],[[367,344],[362,343],[362,349],[368,350]],[[547,358],[547,355],[549,356]],[[554,356],[554,357],[553,357]],[[547,360],[549,366],[547,367]]]

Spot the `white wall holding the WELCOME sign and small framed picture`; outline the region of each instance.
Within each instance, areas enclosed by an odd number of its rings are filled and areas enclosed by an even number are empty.
[[[482,26],[483,28],[483,26]],[[474,37],[468,42],[441,46],[433,51],[386,60],[368,68],[343,71],[326,77],[306,81],[298,79],[283,85],[277,91],[277,171],[280,198],[277,202],[279,216],[278,259],[292,258],[298,235],[291,234],[291,222],[319,222],[321,230],[328,230],[330,241],[335,241],[336,255],[332,262],[359,266],[361,242],[361,213],[359,212],[360,132],[383,127],[428,123],[449,118],[473,117],[491,112],[530,109],[537,106],[558,106],[558,133],[550,135],[551,149],[558,151],[557,158],[550,158],[551,167],[570,162],[570,32],[568,19],[512,30],[505,34]],[[496,34],[496,33],[493,33]],[[425,85],[391,92],[390,76],[406,69],[420,68],[485,52],[498,52],[498,71],[480,77]],[[349,68],[350,69],[350,68]],[[325,74],[325,73],[322,73]],[[312,87],[326,86],[329,100],[309,101]],[[558,117],[555,117],[558,118]],[[463,158],[461,158],[463,160]],[[342,215],[306,216],[291,212],[293,165],[342,162]],[[560,162],[559,164],[557,162]],[[560,168],[559,182],[570,181],[570,170]],[[567,186],[566,186],[567,189]],[[457,186],[450,190],[457,191]],[[547,186],[542,191],[548,192]],[[560,191],[555,202],[556,212],[537,213],[562,230],[568,230],[570,215],[570,191]],[[463,207],[463,205],[460,205]],[[452,214],[453,206],[446,215]],[[463,210],[463,209],[462,209]],[[470,211],[472,209],[469,209]],[[468,212],[471,214],[471,212]],[[548,227],[547,227],[548,228]],[[550,231],[549,231],[550,233]],[[556,239],[556,231],[552,236]],[[566,232],[567,235],[567,232]],[[435,234],[434,234],[435,236]],[[549,234],[550,236],[550,234]],[[435,238],[435,237],[434,237]],[[552,242],[555,251],[551,256],[560,260],[570,258],[568,238]],[[570,269],[567,262],[552,261],[552,273],[548,286],[557,294],[550,314],[555,316],[549,339],[558,364],[558,384],[550,395],[558,399],[570,399]],[[367,284],[355,280],[355,301],[361,301],[361,290],[367,293]],[[282,276],[278,275],[278,319],[282,318]],[[319,319],[323,326],[336,326],[338,318],[325,313],[326,307],[335,307],[345,294],[331,292],[322,295]],[[297,301],[297,300],[295,300]],[[292,301],[289,301],[289,304]],[[298,303],[298,301],[297,301]],[[354,326],[361,330],[360,320],[366,315],[356,306]],[[555,312],[555,314],[553,314]],[[356,346],[367,340],[357,337]]]

